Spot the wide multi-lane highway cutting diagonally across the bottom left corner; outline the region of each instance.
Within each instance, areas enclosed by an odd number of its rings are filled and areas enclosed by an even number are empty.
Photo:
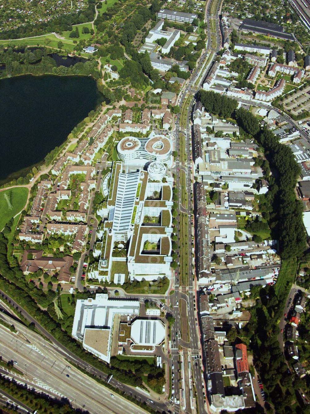
[[[1,315],[1,319],[12,323],[5,314]],[[14,360],[14,366],[24,375],[19,375],[16,371],[6,375],[55,398],[65,397],[73,407],[90,413],[124,413],[127,410],[141,414],[145,412],[81,373],[60,355],[53,344],[40,335],[17,321],[14,321],[14,326],[16,333],[0,325],[1,356],[5,361]]]

